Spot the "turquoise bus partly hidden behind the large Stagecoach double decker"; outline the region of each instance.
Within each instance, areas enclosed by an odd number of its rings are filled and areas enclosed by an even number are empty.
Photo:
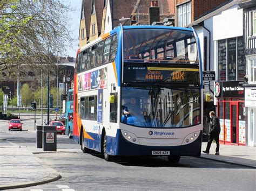
[[[66,97],[66,120],[65,120],[65,135],[71,139],[73,137],[73,89],[69,89]]]

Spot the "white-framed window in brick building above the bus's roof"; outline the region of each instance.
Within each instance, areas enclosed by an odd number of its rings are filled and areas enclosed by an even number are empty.
[[[191,23],[191,2],[179,5],[177,7],[178,12],[178,26],[184,27]]]

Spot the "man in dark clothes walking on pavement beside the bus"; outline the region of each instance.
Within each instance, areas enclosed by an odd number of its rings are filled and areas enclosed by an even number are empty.
[[[206,154],[209,154],[210,151],[210,147],[212,144],[213,139],[215,139],[215,142],[217,144],[216,146],[216,155],[219,155],[219,148],[220,148],[220,144],[219,144],[219,135],[220,135],[220,120],[217,116],[215,116],[215,112],[211,111],[209,113],[210,118],[211,118],[211,122],[210,122],[210,129],[209,129],[209,137],[208,137],[208,143],[207,143],[207,147],[206,150],[203,151]]]

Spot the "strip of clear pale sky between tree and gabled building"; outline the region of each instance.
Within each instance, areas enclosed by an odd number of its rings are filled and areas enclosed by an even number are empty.
[[[71,27],[72,34],[71,36],[75,38],[75,42],[73,43],[73,48],[68,49],[66,55],[76,58],[76,53],[78,44],[79,44],[79,25],[80,25],[80,13],[81,13],[81,6],[82,0],[65,0],[63,1],[64,4],[71,4],[72,8],[76,9],[75,11],[70,12],[71,20],[68,21],[68,25]],[[66,56],[63,55],[63,56]]]

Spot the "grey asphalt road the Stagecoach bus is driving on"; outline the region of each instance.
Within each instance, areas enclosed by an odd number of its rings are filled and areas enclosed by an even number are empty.
[[[0,122],[6,144],[36,147],[33,119],[23,131],[8,131]],[[194,157],[181,157],[170,165],[166,157],[119,158],[106,162],[100,154],[85,154],[65,135],[57,135],[57,148],[67,152],[36,156],[60,173],[58,181],[20,190],[255,190],[255,169]],[[25,161],[24,161],[25,162]]]

